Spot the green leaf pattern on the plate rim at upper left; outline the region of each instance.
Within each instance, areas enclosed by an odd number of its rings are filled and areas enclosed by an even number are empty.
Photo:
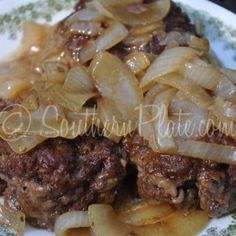
[[[0,33],[14,39],[22,29],[22,23],[29,20],[50,22],[52,16],[62,10],[72,9],[78,0],[39,0],[0,15]]]

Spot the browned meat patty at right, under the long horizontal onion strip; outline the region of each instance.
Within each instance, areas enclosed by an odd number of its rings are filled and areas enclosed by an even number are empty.
[[[219,131],[207,142],[236,145]],[[145,200],[184,208],[200,206],[210,217],[236,209],[236,166],[154,153],[137,134],[124,144],[137,166],[139,194]]]

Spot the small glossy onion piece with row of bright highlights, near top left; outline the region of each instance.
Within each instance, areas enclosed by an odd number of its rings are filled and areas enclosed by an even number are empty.
[[[102,31],[101,23],[95,21],[83,21],[70,26],[70,32],[94,37]]]

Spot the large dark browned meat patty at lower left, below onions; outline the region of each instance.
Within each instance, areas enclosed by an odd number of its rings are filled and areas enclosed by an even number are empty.
[[[125,176],[126,152],[105,138],[47,140],[24,155],[1,141],[0,151],[5,203],[41,228],[66,211],[112,203]]]

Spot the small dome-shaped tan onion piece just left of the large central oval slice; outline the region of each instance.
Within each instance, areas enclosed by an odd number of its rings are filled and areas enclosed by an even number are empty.
[[[95,86],[87,69],[83,66],[75,66],[68,72],[63,88],[68,91],[91,93]]]

